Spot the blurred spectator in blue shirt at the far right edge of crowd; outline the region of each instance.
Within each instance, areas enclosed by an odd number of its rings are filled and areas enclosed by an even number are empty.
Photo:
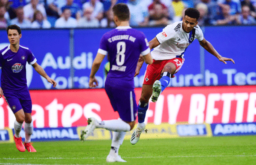
[[[250,7],[247,5],[242,6],[242,13],[239,15],[239,24],[252,25],[256,24],[255,19],[250,16]]]

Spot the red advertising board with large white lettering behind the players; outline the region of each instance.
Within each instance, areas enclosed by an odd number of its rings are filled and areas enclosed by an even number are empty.
[[[136,88],[137,101],[141,88]],[[86,126],[89,117],[118,118],[104,89],[31,90],[35,128]],[[15,116],[0,98],[0,129],[13,129]],[[253,123],[256,122],[256,86],[167,87],[150,102],[145,122]]]

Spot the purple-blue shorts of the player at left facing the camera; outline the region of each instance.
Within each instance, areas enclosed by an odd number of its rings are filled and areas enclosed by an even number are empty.
[[[21,92],[3,92],[3,95],[14,114],[20,109],[23,109],[25,113],[32,112],[32,101],[29,90]]]

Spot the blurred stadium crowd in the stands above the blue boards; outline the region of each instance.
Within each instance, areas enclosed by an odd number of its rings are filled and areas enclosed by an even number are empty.
[[[128,5],[134,27],[180,21],[189,7],[200,11],[200,26],[256,24],[256,0],[0,0],[0,28],[115,27],[117,3]]]

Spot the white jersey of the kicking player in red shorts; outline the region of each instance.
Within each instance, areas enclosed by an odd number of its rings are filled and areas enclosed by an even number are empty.
[[[202,41],[204,34],[201,28],[196,25],[190,33],[182,29],[182,21],[167,25],[162,32],[157,34],[158,45],[151,51],[154,60],[173,59],[176,56],[183,57],[186,48],[194,41]]]

